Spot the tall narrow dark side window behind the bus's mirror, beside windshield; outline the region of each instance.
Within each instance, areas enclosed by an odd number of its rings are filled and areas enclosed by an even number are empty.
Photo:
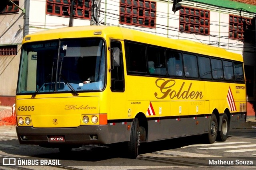
[[[111,70],[111,90],[113,92],[123,92],[124,91],[124,65],[123,65],[123,55],[122,47],[119,41],[111,41],[110,48],[117,47],[120,49],[120,65],[114,66]]]

